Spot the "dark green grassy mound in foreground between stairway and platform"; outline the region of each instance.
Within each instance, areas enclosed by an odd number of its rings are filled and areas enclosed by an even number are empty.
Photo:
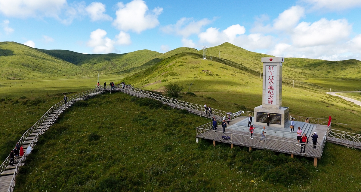
[[[196,143],[194,128],[209,121],[152,99],[99,95],[42,135],[16,191],[284,190],[315,172],[305,158]]]

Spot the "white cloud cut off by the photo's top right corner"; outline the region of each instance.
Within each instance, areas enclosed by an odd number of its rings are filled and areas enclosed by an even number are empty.
[[[312,9],[344,10],[361,6],[360,0],[302,0]]]

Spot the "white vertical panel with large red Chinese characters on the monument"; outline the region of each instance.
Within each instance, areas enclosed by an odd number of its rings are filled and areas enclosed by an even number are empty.
[[[277,95],[277,66],[266,66],[265,104],[275,105]]]

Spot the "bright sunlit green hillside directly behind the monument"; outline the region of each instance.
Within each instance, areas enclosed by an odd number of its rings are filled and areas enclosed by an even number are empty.
[[[231,47],[231,50],[233,49],[244,51],[244,55],[247,55],[247,51],[242,48]],[[258,57],[258,60],[262,56],[254,54],[253,57],[255,59]],[[258,75],[201,58],[200,54],[177,54],[157,63],[149,70],[125,77],[122,81],[142,89],[156,91],[164,90],[164,85],[169,82],[177,82],[184,86],[184,91],[191,91],[200,96],[184,95],[182,100],[197,104],[207,103],[213,108],[229,112],[245,108],[253,111],[254,107],[262,104],[262,81]],[[251,61],[253,60],[251,59],[249,62],[251,63]],[[258,61],[258,63],[261,62]],[[246,62],[243,62],[242,65],[253,68]],[[162,80],[166,81],[162,82]],[[192,86],[190,86],[191,84]],[[292,88],[292,84],[284,83],[282,105],[290,107],[292,115],[321,118],[328,118],[330,115],[336,122],[349,124],[347,129],[361,131],[357,126],[361,124],[360,106],[338,97],[327,97],[323,90],[316,88],[306,83],[296,84],[295,88]],[[240,108],[242,105],[245,108]]]

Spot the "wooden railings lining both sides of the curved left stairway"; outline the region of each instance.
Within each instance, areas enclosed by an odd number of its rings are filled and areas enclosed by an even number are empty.
[[[47,119],[49,117],[50,114],[52,114],[57,108],[58,111],[55,113],[55,115],[52,117],[52,119],[50,121],[48,121],[44,126],[43,128],[41,128],[38,133],[34,136],[34,138],[31,140],[30,144],[29,144],[29,147],[31,148],[34,148],[34,146],[36,145],[36,142],[38,142],[39,140],[39,137],[40,135],[42,135],[45,130],[47,130],[51,125],[53,125],[57,119],[57,117],[66,109],[68,108],[69,106],[71,106],[72,104],[74,104],[75,102],[79,101],[79,100],[84,100],[84,99],[88,99],[90,97],[92,97],[93,95],[95,94],[100,94],[102,93],[104,90],[100,89],[99,87],[95,88],[95,89],[91,89],[91,90],[88,90],[88,91],[85,91],[83,93],[79,93],[79,94],[76,94],[76,95],[72,95],[68,98],[68,102],[66,104],[64,104],[64,100],[56,103],[55,105],[53,105],[40,119],[39,121],[37,121],[33,126],[31,126],[30,129],[28,129],[23,135],[22,137],[20,138],[19,140],[19,144],[23,144],[23,142],[25,142],[26,138],[29,137],[30,134],[34,133],[34,130],[38,129],[39,126],[41,124],[43,124],[44,120]],[[16,178],[16,175],[18,173],[18,170],[19,170],[19,166],[21,166],[21,163],[23,161],[25,161],[26,159],[26,156],[29,155],[29,154],[24,154],[21,159],[19,160],[18,164],[16,165],[16,168],[15,168],[15,172],[14,172],[14,175],[13,175],[13,179],[10,183],[10,186],[9,186],[9,189],[8,189],[8,192],[12,192],[14,187],[15,187],[15,178]],[[0,165],[0,173],[3,172],[6,167],[9,165],[9,162],[10,162],[10,155],[5,159],[5,161],[3,162],[3,164]]]

